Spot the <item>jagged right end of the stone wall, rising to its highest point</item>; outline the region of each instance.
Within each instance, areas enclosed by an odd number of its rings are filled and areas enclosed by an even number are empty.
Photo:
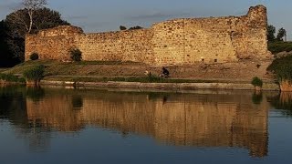
[[[235,18],[231,24],[231,39],[240,59],[269,58],[266,37],[266,7],[250,7],[248,14]]]

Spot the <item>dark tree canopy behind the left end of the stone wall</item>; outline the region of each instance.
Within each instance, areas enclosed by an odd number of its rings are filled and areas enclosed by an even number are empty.
[[[30,25],[30,17],[27,13],[27,9],[17,10],[7,15],[4,21],[5,37],[3,38],[10,52],[9,56],[17,58],[19,61],[25,59],[25,37]],[[36,9],[33,16],[34,22],[31,26],[31,33],[55,26],[70,25],[61,18],[57,11],[46,7]]]

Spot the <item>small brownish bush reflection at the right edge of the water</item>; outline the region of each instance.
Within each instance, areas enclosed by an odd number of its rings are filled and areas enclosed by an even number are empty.
[[[283,114],[292,117],[292,93],[281,92],[276,97],[268,97],[268,101],[276,109],[282,109]]]

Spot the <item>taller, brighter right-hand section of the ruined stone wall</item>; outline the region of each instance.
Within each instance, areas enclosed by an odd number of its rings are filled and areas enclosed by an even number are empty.
[[[266,7],[251,7],[247,15],[176,19],[152,26],[158,65],[193,65],[263,59],[267,51]]]

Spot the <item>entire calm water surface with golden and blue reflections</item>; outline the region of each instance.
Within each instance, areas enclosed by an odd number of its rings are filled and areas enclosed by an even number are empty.
[[[291,163],[292,94],[0,87],[0,163]]]

